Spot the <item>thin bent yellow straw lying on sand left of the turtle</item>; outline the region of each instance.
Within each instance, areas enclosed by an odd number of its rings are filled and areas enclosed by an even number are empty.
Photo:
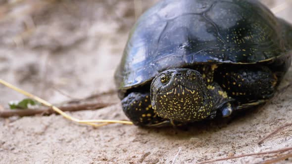
[[[48,106],[50,108],[52,108],[56,113],[62,115],[64,118],[68,119],[68,120],[71,120],[73,122],[76,122],[76,123],[84,123],[84,124],[88,124],[88,125],[92,125],[92,126],[95,126],[95,127],[98,127],[98,126],[103,126],[103,125],[106,125],[106,124],[109,124],[109,123],[123,123],[123,124],[133,124],[132,122],[129,122],[129,121],[119,121],[119,120],[79,120],[79,119],[76,119],[74,117],[71,117],[69,115],[67,115],[66,113],[64,113],[63,111],[61,111],[59,108],[53,106],[52,104],[50,104],[48,101],[44,100],[44,99],[41,99],[40,97],[37,97],[25,90],[22,90],[8,82],[5,82],[3,80],[0,79],[0,83],[23,94],[23,95],[26,95],[27,97],[30,97],[36,101],[38,101],[39,103],[42,103],[44,104],[45,106]],[[101,123],[101,124],[96,124],[96,123]]]

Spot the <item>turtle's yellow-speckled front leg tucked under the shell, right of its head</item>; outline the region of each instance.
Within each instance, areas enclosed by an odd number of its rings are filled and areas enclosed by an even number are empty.
[[[228,95],[237,100],[225,103],[219,108],[223,117],[236,110],[264,104],[273,97],[278,83],[276,74],[264,66],[232,66],[217,71],[217,82]]]

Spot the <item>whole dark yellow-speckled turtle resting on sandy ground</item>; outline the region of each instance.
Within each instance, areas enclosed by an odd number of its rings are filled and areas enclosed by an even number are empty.
[[[291,54],[292,25],[257,0],[161,0],[132,28],[114,79],[135,125],[179,126],[264,104]]]

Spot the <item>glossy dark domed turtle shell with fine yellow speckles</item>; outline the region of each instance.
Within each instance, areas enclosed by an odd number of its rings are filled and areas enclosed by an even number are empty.
[[[198,64],[251,64],[288,51],[283,23],[257,0],[161,0],[132,29],[115,72],[120,90]]]

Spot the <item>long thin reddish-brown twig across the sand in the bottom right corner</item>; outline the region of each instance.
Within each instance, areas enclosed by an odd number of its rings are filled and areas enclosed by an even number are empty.
[[[292,147],[279,149],[279,150],[268,151],[268,152],[243,154],[243,155],[234,156],[234,157],[227,157],[227,158],[221,158],[221,159],[216,159],[216,160],[209,160],[209,161],[201,162],[201,163],[198,163],[198,164],[208,164],[208,163],[214,163],[214,162],[218,162],[218,161],[226,161],[226,160],[237,159],[237,158],[248,157],[248,156],[259,156],[259,155],[266,155],[266,154],[273,154],[273,153],[283,153],[283,152],[287,152],[287,151],[290,151],[290,150],[292,150]]]

